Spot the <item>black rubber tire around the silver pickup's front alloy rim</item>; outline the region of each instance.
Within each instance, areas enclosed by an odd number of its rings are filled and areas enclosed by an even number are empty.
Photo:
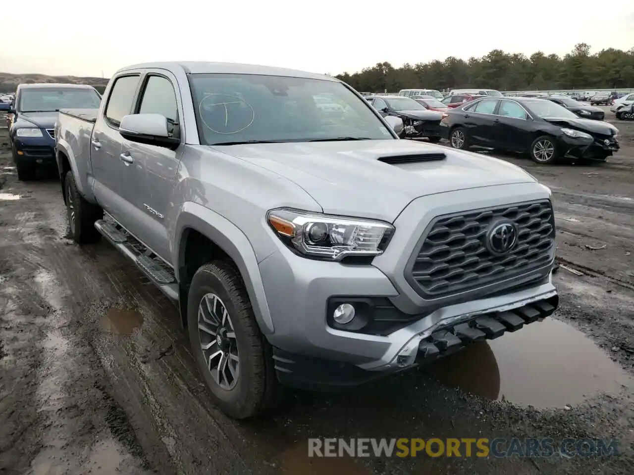
[[[233,388],[223,388],[216,381],[207,367],[207,354],[201,348],[201,334],[213,340],[198,329],[198,306],[204,302],[205,295],[217,296],[220,300],[217,305],[224,306],[228,313],[226,323],[215,327],[216,334],[223,331],[221,327],[233,330],[235,334],[233,346],[227,350],[229,353],[236,351],[239,358],[238,377]],[[187,321],[191,349],[216,405],[234,419],[247,419],[273,409],[279,402],[280,384],[273,366],[271,346],[257,326],[242,277],[230,263],[213,261],[197,270],[187,298]],[[230,341],[229,338],[224,343]],[[209,354],[215,352],[214,348],[220,348],[217,342],[209,345],[212,345],[207,350]],[[219,374],[217,368],[216,374]],[[224,382],[227,380],[225,376]]]

